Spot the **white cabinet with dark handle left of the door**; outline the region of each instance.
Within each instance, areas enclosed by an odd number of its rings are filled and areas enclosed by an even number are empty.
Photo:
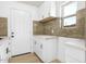
[[[8,43],[9,41],[5,39],[0,40],[0,63],[7,63],[9,60],[8,56]]]

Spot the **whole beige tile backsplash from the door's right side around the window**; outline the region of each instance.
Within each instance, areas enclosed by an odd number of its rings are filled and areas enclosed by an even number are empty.
[[[76,13],[76,28],[61,28],[60,18],[50,21],[48,23],[35,23],[37,26],[34,26],[35,35],[56,35],[62,37],[71,38],[84,38],[86,35],[86,9],[79,10]]]

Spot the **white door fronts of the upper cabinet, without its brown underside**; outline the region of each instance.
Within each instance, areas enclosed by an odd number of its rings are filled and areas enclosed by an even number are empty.
[[[46,1],[39,8],[39,20],[56,16],[56,1]]]

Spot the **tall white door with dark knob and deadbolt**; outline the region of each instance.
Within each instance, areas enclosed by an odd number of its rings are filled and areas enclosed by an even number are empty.
[[[22,10],[11,10],[12,55],[30,52],[30,17]]]

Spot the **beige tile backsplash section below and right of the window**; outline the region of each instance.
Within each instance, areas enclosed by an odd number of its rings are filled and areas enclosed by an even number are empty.
[[[76,28],[61,28],[60,36],[62,37],[72,37],[72,38],[84,38],[85,30],[85,17],[86,9],[79,10],[76,13]]]

